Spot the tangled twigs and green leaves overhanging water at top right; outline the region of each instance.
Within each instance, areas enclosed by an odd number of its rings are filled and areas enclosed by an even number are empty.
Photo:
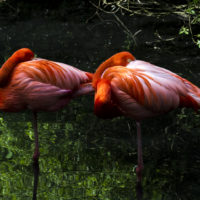
[[[175,2],[174,2],[175,3]],[[177,2],[176,2],[177,3]],[[146,16],[161,17],[168,16],[172,13],[179,16],[184,25],[179,29],[182,36],[190,36],[193,43],[200,47],[199,43],[199,26],[200,26],[200,1],[192,0],[187,4],[178,2],[177,4],[167,3],[165,1],[136,1],[136,0],[100,0],[99,4],[94,4],[97,10],[106,14],[115,16],[116,22],[119,23],[129,36],[129,41],[135,42],[136,33],[132,33],[117,14],[134,16],[137,14]],[[130,42],[129,42],[130,43]],[[127,48],[129,43],[126,44]]]

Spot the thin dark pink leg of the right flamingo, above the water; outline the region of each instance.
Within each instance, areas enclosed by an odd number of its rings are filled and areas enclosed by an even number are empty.
[[[137,182],[142,182],[143,157],[142,157],[142,136],[140,122],[136,122],[137,127],[137,153],[138,153],[138,166],[136,168]]]

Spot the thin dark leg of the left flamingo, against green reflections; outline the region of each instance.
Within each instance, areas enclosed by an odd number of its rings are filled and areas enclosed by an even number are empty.
[[[39,152],[39,142],[38,142],[37,112],[35,111],[33,111],[33,130],[35,136],[35,150],[33,154],[33,161],[38,162],[40,152]]]

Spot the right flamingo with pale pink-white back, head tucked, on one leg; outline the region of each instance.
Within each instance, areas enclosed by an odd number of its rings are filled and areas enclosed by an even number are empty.
[[[94,112],[101,118],[129,116],[136,120],[138,142],[137,182],[142,181],[142,142],[140,121],[177,107],[200,108],[200,89],[173,72],[129,52],[113,55],[93,76]]]

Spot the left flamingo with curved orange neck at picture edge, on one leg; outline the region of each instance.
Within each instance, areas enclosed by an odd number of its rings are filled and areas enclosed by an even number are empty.
[[[33,111],[35,150],[38,162],[38,111],[56,111],[77,96],[93,91],[92,74],[45,59],[33,59],[28,48],[16,51],[0,69],[0,110]]]

